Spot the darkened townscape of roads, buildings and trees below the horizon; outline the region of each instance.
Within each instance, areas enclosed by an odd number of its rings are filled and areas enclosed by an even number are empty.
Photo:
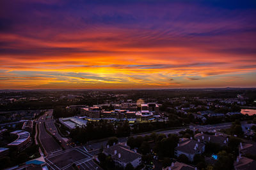
[[[3,90],[1,169],[255,169],[256,89]]]

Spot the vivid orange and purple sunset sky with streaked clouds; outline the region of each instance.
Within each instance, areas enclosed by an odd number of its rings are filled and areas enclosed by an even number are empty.
[[[202,87],[256,87],[256,1],[0,2],[0,89]]]

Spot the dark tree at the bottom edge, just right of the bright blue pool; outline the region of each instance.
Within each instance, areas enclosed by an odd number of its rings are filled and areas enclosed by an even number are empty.
[[[222,170],[222,169],[234,169],[234,158],[231,153],[227,153],[226,151],[221,151],[218,154],[218,160],[216,164],[214,164],[214,169]]]

